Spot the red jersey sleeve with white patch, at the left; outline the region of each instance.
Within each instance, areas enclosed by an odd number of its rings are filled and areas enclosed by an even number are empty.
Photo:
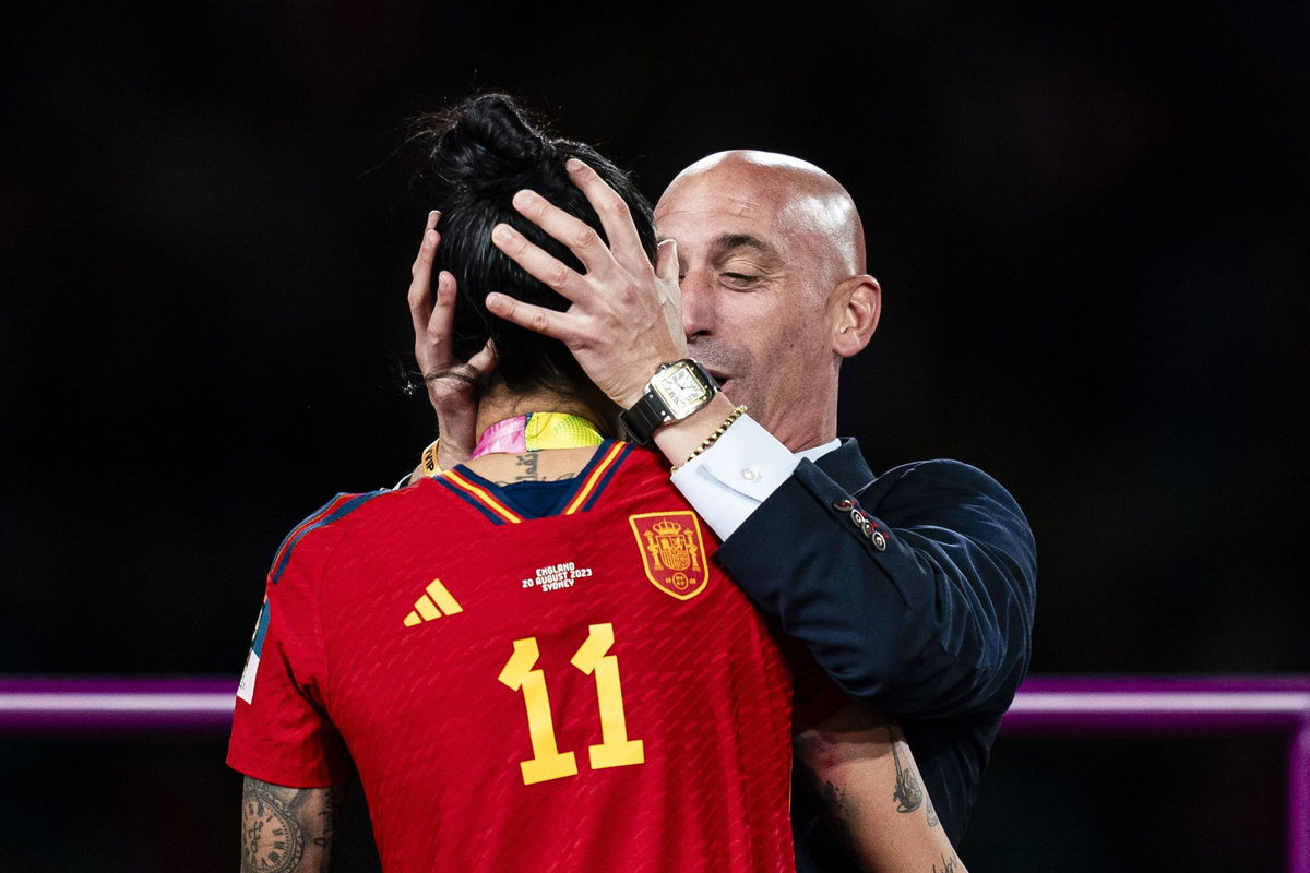
[[[324,708],[318,585],[334,533],[301,525],[279,550],[237,688],[228,766],[275,785],[325,788],[350,776],[345,742]]]

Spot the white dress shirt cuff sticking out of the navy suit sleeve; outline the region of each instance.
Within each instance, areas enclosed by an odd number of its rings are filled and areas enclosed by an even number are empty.
[[[679,467],[672,482],[719,539],[727,539],[798,463],[798,455],[743,415],[714,445]]]

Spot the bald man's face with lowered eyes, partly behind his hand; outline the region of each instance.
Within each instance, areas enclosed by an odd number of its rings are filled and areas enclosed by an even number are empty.
[[[655,207],[677,241],[692,357],[793,449],[829,438],[836,407],[828,302],[845,276],[806,220],[811,200],[786,173],[719,165],[675,179]]]

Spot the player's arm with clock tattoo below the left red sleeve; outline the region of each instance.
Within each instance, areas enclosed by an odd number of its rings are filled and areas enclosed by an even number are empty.
[[[326,873],[338,801],[337,788],[284,788],[246,776],[241,873]]]

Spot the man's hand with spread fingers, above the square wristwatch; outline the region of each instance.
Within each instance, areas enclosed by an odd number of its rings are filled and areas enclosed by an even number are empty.
[[[572,305],[559,313],[493,293],[487,309],[562,340],[596,386],[627,408],[660,364],[686,357],[677,249],[671,240],[663,242],[652,266],[624,199],[576,158],[570,158],[569,173],[600,216],[609,245],[541,195],[519,191],[515,209],[569,246],[586,272],[569,268],[514,228],[496,225],[491,234],[495,246]]]

